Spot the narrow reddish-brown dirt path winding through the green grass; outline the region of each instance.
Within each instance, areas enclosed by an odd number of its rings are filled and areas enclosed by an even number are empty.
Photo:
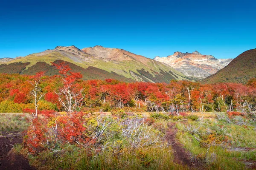
[[[177,128],[175,127],[175,123],[168,124],[168,130],[166,132],[166,140],[169,144],[172,144],[172,149],[174,150],[174,161],[178,164],[187,165],[189,169],[203,169],[197,162],[191,161],[190,153],[186,152],[183,146],[175,139]]]

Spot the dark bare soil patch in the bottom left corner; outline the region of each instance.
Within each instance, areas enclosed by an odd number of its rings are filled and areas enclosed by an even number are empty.
[[[21,132],[0,133],[0,170],[35,170],[24,156],[11,151],[19,143],[22,143]]]

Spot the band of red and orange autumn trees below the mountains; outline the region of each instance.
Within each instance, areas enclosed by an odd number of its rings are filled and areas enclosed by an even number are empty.
[[[0,112],[18,113],[26,108],[35,109],[35,94],[31,93],[35,88],[40,96],[39,111],[109,112],[122,109],[179,115],[187,111],[256,110],[256,78],[245,85],[176,80],[169,84],[125,83],[115,79],[84,81],[81,74],[69,72],[68,65],[55,65],[61,69],[61,76],[47,77],[44,72],[35,76],[0,74]],[[71,93],[70,98],[65,98],[68,97],[67,91]],[[70,103],[65,100],[70,100]]]

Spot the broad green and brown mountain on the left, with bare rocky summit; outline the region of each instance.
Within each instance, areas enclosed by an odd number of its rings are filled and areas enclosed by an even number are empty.
[[[84,79],[119,79],[125,82],[169,82],[186,79],[184,74],[161,62],[118,48],[100,45],[79,49],[76,46],[57,46],[55,49],[29,54],[26,57],[0,60],[0,73],[35,74],[47,71],[57,74],[51,62],[65,61],[74,71],[81,72]]]

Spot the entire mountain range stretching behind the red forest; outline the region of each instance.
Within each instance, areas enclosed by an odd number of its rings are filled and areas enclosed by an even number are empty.
[[[119,48],[100,45],[89,48],[57,46],[25,57],[0,58],[0,73],[30,74],[46,71],[58,74],[51,62],[66,62],[83,79],[118,79],[123,82],[170,82],[200,80],[203,83],[246,83],[256,77],[256,48],[235,59],[216,59],[211,55],[175,52],[168,57],[150,59]],[[207,78],[205,78],[207,77]]]

